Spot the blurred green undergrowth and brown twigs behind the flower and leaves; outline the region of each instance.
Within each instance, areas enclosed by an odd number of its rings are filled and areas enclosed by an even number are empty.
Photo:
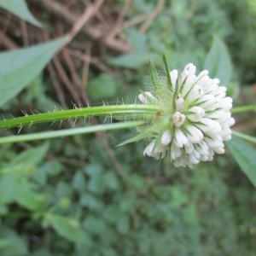
[[[92,1],[91,1],[92,2]],[[95,12],[96,4],[102,2]],[[43,28],[0,9],[0,49],[42,43],[90,20],[25,90],[1,107],[36,109],[133,102],[148,86],[148,60],[201,70],[212,37],[230,50],[235,104],[256,94],[253,0],[28,0]],[[22,110],[22,111],[21,111]],[[90,119],[97,124],[103,119]],[[61,128],[84,120],[63,122]],[[250,114],[237,131],[255,135]],[[22,133],[60,124],[23,127]],[[7,136],[13,131],[1,131]],[[143,143],[115,146],[135,131],[4,144],[0,149],[0,254],[256,255],[256,193],[228,150],[194,170],[143,157]]]

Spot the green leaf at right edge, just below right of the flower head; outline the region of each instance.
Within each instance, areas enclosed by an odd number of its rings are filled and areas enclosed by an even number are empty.
[[[228,147],[241,170],[256,187],[256,149],[238,137],[233,137]]]

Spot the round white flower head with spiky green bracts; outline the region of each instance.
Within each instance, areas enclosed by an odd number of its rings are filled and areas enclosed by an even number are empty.
[[[191,63],[182,73],[166,68],[162,79],[151,66],[154,87],[138,99],[160,111],[138,130],[149,141],[144,155],[158,160],[169,155],[174,166],[192,168],[200,161],[212,160],[215,153],[224,154],[224,141],[230,140],[230,126],[235,124],[230,113],[232,99],[207,70],[198,75],[195,70]]]

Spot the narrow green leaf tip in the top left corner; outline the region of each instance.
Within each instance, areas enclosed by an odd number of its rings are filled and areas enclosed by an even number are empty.
[[[6,9],[13,15],[17,15],[20,19],[30,22],[34,26],[42,26],[27,8],[25,0],[2,0],[0,7]]]

